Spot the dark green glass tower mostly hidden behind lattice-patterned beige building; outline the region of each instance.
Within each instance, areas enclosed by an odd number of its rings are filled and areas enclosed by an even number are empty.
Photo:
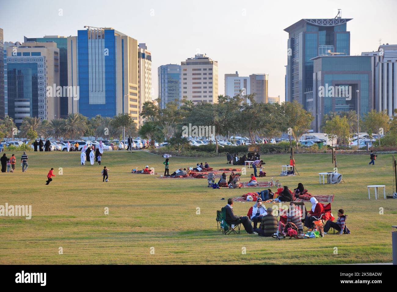
[[[38,43],[56,43],[57,48],[59,48],[59,86],[61,86],[62,88],[64,88],[64,86],[67,86],[67,37],[61,37],[59,35],[46,35],[44,37],[37,38],[24,37],[24,41],[25,43],[32,41]],[[67,97],[61,96],[60,118],[66,118],[67,114]]]

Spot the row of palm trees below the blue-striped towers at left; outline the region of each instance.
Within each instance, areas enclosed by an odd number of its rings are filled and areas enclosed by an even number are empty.
[[[32,131],[37,133],[36,137],[44,137],[45,139],[54,137],[56,140],[60,137],[64,139],[78,139],[82,136],[95,136],[95,139],[98,137],[110,138],[119,137],[123,127],[129,135],[136,135],[137,125],[129,114],[119,114],[113,118],[104,118],[97,115],[89,119],[79,113],[74,113],[69,114],[65,119],[53,119],[50,121],[40,121],[37,117],[25,117],[19,127],[19,131],[15,131],[15,123],[12,118],[7,116],[4,120],[0,120],[0,138],[30,138],[30,135],[33,133]]]

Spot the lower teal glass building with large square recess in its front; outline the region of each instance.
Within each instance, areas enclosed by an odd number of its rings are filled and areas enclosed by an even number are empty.
[[[362,115],[374,108],[372,57],[317,56],[312,60],[315,131],[319,132],[329,112],[358,110]]]

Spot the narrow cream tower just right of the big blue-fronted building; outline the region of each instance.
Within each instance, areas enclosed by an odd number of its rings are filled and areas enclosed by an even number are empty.
[[[152,101],[152,53],[147,50],[145,43],[138,46],[138,104],[139,114],[146,101]],[[139,125],[143,118],[139,116]]]

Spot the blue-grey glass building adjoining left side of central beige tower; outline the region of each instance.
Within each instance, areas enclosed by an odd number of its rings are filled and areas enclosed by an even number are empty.
[[[161,65],[158,71],[158,97],[160,107],[165,108],[169,101],[180,101],[181,95],[181,65]],[[186,81],[187,83],[187,81]]]

